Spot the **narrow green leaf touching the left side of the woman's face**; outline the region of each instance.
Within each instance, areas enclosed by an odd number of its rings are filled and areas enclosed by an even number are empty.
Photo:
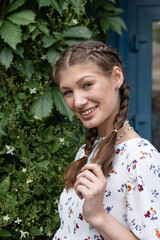
[[[53,88],[53,99],[54,104],[56,106],[57,111],[59,111],[62,115],[65,115],[69,118],[69,120],[72,120],[72,117],[74,116],[73,112],[68,108],[63,95],[61,94],[58,87]]]

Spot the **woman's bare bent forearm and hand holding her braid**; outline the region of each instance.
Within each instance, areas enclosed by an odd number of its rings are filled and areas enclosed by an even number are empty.
[[[107,181],[97,164],[86,164],[77,176],[75,191],[83,199],[84,218],[105,240],[136,240],[133,233],[108,214],[103,207]]]

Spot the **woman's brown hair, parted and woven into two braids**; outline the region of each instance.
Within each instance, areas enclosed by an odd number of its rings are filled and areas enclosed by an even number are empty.
[[[98,42],[98,41],[86,41],[80,44],[69,47],[60,57],[55,64],[54,77],[58,81],[61,71],[67,69],[69,66],[81,64],[84,62],[95,63],[107,76],[112,73],[114,66],[118,66],[123,75],[125,70],[122,64],[122,60],[118,53],[110,46]],[[115,129],[120,129],[126,119],[128,102],[129,102],[129,87],[124,81],[120,93],[120,106],[117,115],[115,116],[113,126]],[[92,151],[94,141],[98,135],[97,128],[91,128],[88,130],[88,135],[85,141],[85,154],[89,156]],[[96,154],[92,158],[93,163],[97,163],[102,166],[102,171],[105,176],[112,169],[112,160],[115,154],[115,144],[117,140],[117,133],[112,132],[103,141],[100,141]],[[64,179],[66,187],[73,187],[76,181],[76,176],[80,173],[81,168],[87,163],[87,157],[84,156],[81,159],[72,162],[65,171]]]

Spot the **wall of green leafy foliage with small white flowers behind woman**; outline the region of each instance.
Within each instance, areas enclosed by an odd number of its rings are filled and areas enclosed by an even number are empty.
[[[64,169],[85,130],[52,72],[66,47],[121,33],[112,3],[0,1],[0,239],[52,239],[59,225]]]

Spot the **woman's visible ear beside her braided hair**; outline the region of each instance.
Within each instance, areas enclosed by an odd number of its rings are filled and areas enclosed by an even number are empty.
[[[119,67],[115,66],[113,68],[112,77],[113,77],[115,88],[120,88],[124,82],[124,76]]]

